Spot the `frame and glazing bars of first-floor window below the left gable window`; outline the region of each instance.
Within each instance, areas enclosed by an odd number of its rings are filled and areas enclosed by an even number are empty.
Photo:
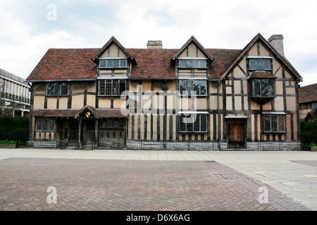
[[[114,81],[117,81],[117,82],[115,83]],[[98,96],[121,96],[123,91],[126,90],[126,83],[127,83],[126,81],[127,81],[126,79],[98,79]],[[107,89],[107,84],[110,85],[110,88],[108,89]],[[118,94],[113,94],[113,84],[118,85]],[[108,94],[107,90],[110,90],[111,93]]]

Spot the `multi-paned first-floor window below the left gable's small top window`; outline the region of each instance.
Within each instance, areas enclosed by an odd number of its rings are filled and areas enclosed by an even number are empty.
[[[99,96],[120,96],[125,91],[125,79],[99,79]]]

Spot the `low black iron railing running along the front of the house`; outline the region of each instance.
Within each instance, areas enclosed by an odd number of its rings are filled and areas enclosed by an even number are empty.
[[[316,143],[316,134],[181,134],[163,132],[100,131],[36,131],[28,138],[27,131],[0,133],[1,139],[20,141],[25,148],[59,148],[73,150],[131,149],[131,150],[307,150],[306,143]],[[243,138],[244,137],[244,138]],[[23,144],[21,144],[23,143]]]

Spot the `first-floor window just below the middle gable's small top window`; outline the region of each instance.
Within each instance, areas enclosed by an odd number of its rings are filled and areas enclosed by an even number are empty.
[[[207,80],[203,79],[180,79],[180,95],[207,95]]]

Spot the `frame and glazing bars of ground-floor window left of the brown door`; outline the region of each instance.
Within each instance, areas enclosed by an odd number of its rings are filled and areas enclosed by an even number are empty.
[[[188,115],[187,115],[188,114]],[[191,117],[192,115],[196,115],[196,121],[195,122],[192,122],[192,123],[185,123],[185,122],[182,122],[182,119],[184,118],[184,115],[185,117]],[[182,134],[206,134],[208,133],[208,115],[209,113],[190,113],[190,112],[180,112],[178,113],[178,117],[179,117],[179,123],[178,123],[178,132],[179,133],[182,133]],[[205,121],[202,121],[201,117],[205,117],[204,120]],[[199,119],[199,131],[195,131],[195,123],[197,122],[197,119]],[[204,127],[202,127],[202,124],[201,122],[204,122],[205,125]],[[185,124],[185,129],[182,130],[182,124]],[[187,130],[187,124],[192,124],[192,128],[190,130]],[[205,129],[203,129],[205,128]]]

